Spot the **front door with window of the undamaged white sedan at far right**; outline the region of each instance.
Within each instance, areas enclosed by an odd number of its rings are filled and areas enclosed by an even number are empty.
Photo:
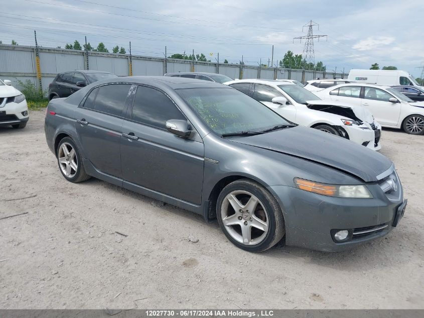
[[[364,86],[362,106],[367,108],[381,125],[396,126],[400,116],[400,102],[391,102],[394,97],[388,92],[375,87]]]

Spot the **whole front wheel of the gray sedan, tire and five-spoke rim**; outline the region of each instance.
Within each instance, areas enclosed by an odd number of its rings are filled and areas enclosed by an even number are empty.
[[[217,219],[225,236],[250,252],[271,248],[285,234],[277,200],[249,179],[234,181],[222,189],[217,200]]]

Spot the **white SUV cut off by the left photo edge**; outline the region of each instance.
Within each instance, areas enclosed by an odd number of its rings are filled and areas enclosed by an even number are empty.
[[[29,120],[25,95],[11,86],[8,79],[0,79],[0,127],[12,126],[22,129]]]

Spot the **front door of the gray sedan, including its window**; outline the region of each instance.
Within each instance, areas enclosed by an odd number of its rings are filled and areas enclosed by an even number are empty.
[[[187,120],[164,92],[138,85],[122,126],[124,182],[200,205],[203,141],[197,133],[187,139],[170,133],[165,123],[171,119]]]

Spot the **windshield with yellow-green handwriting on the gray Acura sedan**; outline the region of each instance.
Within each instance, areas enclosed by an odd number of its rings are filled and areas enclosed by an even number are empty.
[[[260,132],[277,125],[292,125],[236,89],[187,88],[176,91],[203,122],[220,135]]]

